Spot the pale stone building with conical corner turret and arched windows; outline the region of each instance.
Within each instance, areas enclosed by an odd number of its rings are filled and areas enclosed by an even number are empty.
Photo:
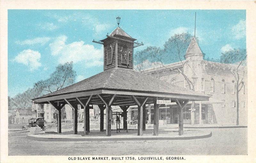
[[[237,65],[204,60],[204,54],[195,38],[191,40],[185,58],[186,60],[182,62],[150,68],[144,73],[189,89],[188,81],[184,76],[180,72],[171,70],[180,68],[193,82],[196,92],[212,96],[209,101],[196,101],[195,110],[191,110],[192,103],[188,103],[183,110],[184,124],[236,124],[236,81],[235,77],[224,67],[237,67]],[[247,68],[243,68],[245,72],[240,74],[244,76],[244,85],[239,92],[239,124],[247,125]],[[152,114],[151,117],[153,117]],[[178,123],[175,103],[159,109],[160,123]]]

